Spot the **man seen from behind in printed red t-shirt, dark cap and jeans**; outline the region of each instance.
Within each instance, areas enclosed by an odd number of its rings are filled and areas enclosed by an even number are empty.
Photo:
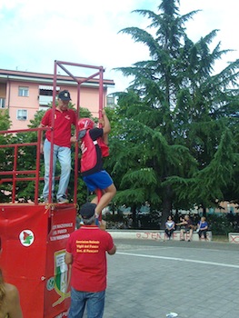
[[[84,225],[72,233],[66,244],[65,263],[71,265],[71,307],[68,318],[102,318],[105,307],[106,252],[115,254],[110,234],[95,225],[96,204],[80,209]]]

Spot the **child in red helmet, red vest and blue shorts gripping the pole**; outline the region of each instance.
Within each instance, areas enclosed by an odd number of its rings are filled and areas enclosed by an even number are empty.
[[[100,190],[101,198],[97,195],[92,200],[95,207],[95,217],[98,218],[102,210],[107,206],[116,194],[115,184],[111,176],[103,168],[103,156],[105,154],[105,144],[107,135],[111,130],[105,110],[102,111],[100,124],[102,128],[95,127],[95,123],[90,118],[81,118],[78,121],[79,141],[81,146],[81,174],[90,192]],[[106,147],[107,148],[107,147]]]

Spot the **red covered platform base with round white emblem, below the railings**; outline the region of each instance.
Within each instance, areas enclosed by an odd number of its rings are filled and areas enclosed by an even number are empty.
[[[24,317],[67,317],[65,244],[75,230],[75,204],[0,204],[0,211],[0,266],[19,290]]]

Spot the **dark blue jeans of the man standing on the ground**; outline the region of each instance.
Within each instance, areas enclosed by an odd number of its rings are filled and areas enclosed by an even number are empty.
[[[82,318],[85,304],[87,318],[102,318],[105,308],[105,291],[97,293],[78,292],[72,287],[68,318]]]

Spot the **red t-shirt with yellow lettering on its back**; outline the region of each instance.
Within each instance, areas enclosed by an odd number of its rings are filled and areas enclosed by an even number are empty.
[[[95,225],[83,225],[72,233],[66,252],[73,256],[71,285],[80,292],[106,289],[106,252],[114,247],[113,238]]]

